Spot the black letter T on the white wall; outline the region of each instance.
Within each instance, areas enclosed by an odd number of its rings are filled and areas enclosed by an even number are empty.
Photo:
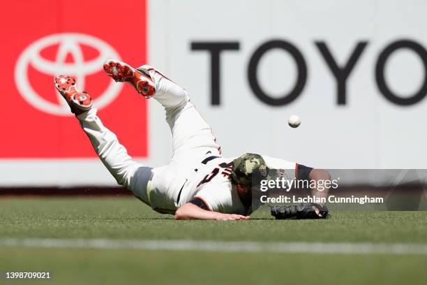
[[[239,50],[239,42],[194,42],[191,50],[211,52],[211,104],[220,105],[220,52]]]

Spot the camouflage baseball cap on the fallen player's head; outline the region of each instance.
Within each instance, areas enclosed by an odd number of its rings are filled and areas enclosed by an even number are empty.
[[[246,153],[233,161],[232,177],[234,182],[252,185],[269,174],[269,168],[260,154]]]

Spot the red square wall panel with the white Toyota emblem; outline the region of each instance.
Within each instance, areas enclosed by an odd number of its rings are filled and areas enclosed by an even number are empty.
[[[4,3],[8,29],[0,36],[2,112],[0,159],[96,158],[77,120],[59,97],[53,78],[71,75],[98,108],[103,123],[114,131],[134,157],[147,157],[147,101],[102,71],[105,59],[147,63],[146,3],[126,6],[61,1],[49,7],[38,1]],[[133,9],[128,9],[131,6]],[[20,10],[20,17],[15,11]],[[114,11],[114,20],[106,19]],[[90,20],[89,20],[90,19]],[[90,22],[90,24],[88,24]],[[126,23],[125,28],[118,23]]]

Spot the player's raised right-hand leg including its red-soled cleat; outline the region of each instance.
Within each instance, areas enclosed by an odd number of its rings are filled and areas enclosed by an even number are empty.
[[[110,60],[106,61],[104,69],[114,80],[130,83],[138,93],[146,98],[152,96],[163,105],[172,131],[175,161],[197,160],[207,153],[220,156],[220,147],[212,135],[211,126],[196,110],[185,89],[151,66],[140,66],[135,70],[120,61]]]

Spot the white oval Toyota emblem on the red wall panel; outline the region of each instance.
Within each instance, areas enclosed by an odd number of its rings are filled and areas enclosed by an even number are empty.
[[[57,45],[57,54],[54,61],[43,58],[41,52],[52,45]],[[98,51],[98,57],[85,61],[82,45],[92,47]],[[66,57],[71,55],[73,62],[66,62]],[[85,34],[63,33],[53,34],[34,41],[27,47],[17,60],[15,68],[15,82],[21,96],[34,108],[52,115],[71,116],[67,103],[57,96],[57,102],[47,101],[31,86],[28,76],[29,66],[36,71],[50,75],[52,78],[58,74],[75,76],[80,89],[84,90],[84,82],[88,75],[102,70],[105,59],[119,59],[119,54],[107,43]],[[110,82],[105,92],[96,100],[95,107],[103,108],[111,103],[119,94],[123,85]]]

